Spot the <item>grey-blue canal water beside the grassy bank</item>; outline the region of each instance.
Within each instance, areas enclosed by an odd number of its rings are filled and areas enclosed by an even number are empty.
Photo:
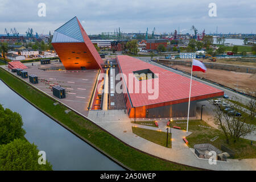
[[[22,115],[25,137],[46,152],[53,170],[124,170],[29,104],[1,80],[0,104]]]

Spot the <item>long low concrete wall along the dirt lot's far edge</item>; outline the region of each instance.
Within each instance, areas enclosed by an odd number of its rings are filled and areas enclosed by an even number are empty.
[[[176,64],[176,65],[185,65],[187,67],[191,67],[191,61],[183,61],[183,60],[166,60],[159,59],[159,63],[161,64]],[[232,65],[232,64],[216,64],[216,63],[204,63],[205,67],[210,69],[222,69],[226,71],[234,71],[241,73],[256,73],[256,67],[248,67],[243,65]]]

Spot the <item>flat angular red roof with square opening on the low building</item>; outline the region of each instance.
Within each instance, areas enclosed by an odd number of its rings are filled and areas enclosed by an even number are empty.
[[[153,105],[162,102],[169,102],[168,104],[178,104],[181,102],[188,102],[189,97],[189,86],[190,78],[178,75],[174,72],[167,71],[166,69],[157,67],[155,65],[146,63],[139,59],[135,59],[130,56],[117,56],[117,61],[121,72],[127,76],[126,86],[129,85],[129,73],[131,78],[133,78],[133,93],[129,92],[129,96],[134,107]],[[159,96],[154,100],[149,100],[148,96],[152,96],[152,93],[142,93],[142,84],[147,80],[137,80],[133,75],[134,71],[140,71],[143,69],[150,69],[154,74],[158,73],[159,78]],[[152,78],[152,85],[154,86],[154,81],[156,78]],[[135,82],[139,82],[140,93],[135,93]],[[212,86],[205,85],[199,81],[192,80],[191,88],[191,101],[208,99],[212,97],[223,96],[224,92],[222,90],[213,88]]]

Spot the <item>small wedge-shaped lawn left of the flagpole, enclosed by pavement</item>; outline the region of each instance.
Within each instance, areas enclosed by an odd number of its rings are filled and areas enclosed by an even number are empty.
[[[159,144],[160,146],[166,147],[167,133],[165,133],[163,131],[155,131],[155,130],[142,129],[140,127],[133,127],[133,133],[138,135],[141,138],[149,140],[150,142],[154,142],[156,144]],[[170,133],[168,133],[168,146],[167,147],[168,148],[172,147]]]

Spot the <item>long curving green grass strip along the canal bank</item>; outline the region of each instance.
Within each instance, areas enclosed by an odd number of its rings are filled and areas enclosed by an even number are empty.
[[[11,73],[8,73],[2,68],[0,68],[0,78],[11,88],[16,90],[16,92],[27,98],[27,100],[131,169],[170,171],[196,170],[196,168],[193,167],[154,158],[126,146],[126,144],[122,143],[120,140],[101,130],[98,126],[73,111],[65,114],[64,111],[68,109],[67,107],[62,104],[54,106],[53,103],[56,102],[56,100],[52,100],[39,90],[32,88],[30,85],[27,85],[24,81],[11,75]]]

